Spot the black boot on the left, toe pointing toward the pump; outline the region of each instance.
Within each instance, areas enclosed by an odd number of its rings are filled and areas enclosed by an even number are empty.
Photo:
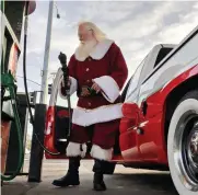
[[[69,185],[79,185],[80,184],[79,167],[80,167],[80,157],[69,158],[68,173],[59,180],[54,180],[53,185],[56,185],[59,187],[66,187]]]

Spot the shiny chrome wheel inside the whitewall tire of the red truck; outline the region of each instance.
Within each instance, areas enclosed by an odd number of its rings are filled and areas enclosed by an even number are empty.
[[[174,136],[175,163],[178,164],[182,183],[190,191],[198,191],[198,115],[184,113]]]

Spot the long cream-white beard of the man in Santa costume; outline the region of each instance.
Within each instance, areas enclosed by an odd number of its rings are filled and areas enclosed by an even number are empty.
[[[97,45],[97,42],[94,39],[85,42],[85,43],[80,43],[79,47],[77,48],[78,56],[80,58],[89,57],[96,45]]]

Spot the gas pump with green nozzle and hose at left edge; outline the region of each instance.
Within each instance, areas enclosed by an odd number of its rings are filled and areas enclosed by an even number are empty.
[[[35,1],[31,1],[26,15],[35,10]],[[1,179],[14,179],[23,164],[22,128],[16,106],[16,65],[21,53],[20,38],[25,1],[1,1],[1,173],[5,170],[11,122],[14,121],[18,131],[20,158],[15,172],[10,176],[1,174]]]

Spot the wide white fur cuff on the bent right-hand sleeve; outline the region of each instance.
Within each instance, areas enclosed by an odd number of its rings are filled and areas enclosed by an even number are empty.
[[[114,103],[119,96],[119,87],[117,82],[109,76],[103,76],[96,79],[93,79],[100,88],[103,90],[103,96],[110,103]]]

